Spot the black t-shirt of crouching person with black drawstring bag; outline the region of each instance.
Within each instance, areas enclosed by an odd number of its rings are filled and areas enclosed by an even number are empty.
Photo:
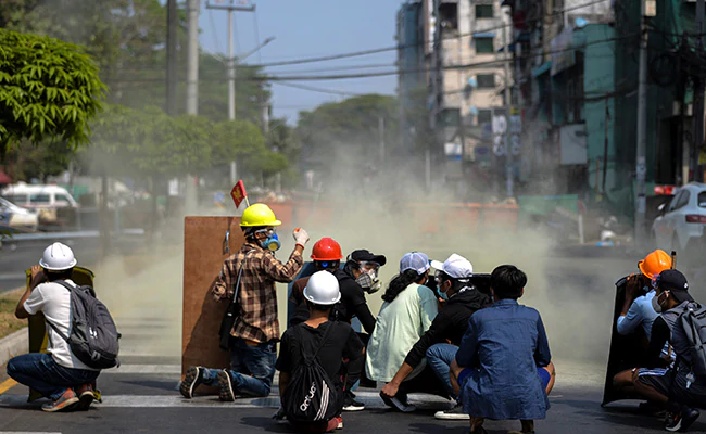
[[[340,383],[343,359],[355,360],[362,357],[363,353],[363,342],[353,331],[351,324],[346,322],[326,321],[316,329],[302,322],[287,329],[279,344],[277,370],[280,372],[294,371],[294,368],[303,362],[302,348],[306,354],[316,353],[322,345],[324,333],[329,328],[332,329],[328,332],[326,342],[318,352],[318,361],[329,378],[336,383]]]

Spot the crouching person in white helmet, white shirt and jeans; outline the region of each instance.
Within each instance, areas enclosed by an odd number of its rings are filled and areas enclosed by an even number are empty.
[[[31,267],[31,283],[15,309],[20,319],[45,314],[49,354],[25,354],[8,362],[8,375],[51,399],[42,406],[45,411],[87,410],[93,401],[93,383],[100,373],[78,360],[56,332],[68,335],[71,324],[71,293],[56,281],[64,280],[75,286],[71,280],[74,266],[76,258],[67,245],[48,246],[39,265]]]

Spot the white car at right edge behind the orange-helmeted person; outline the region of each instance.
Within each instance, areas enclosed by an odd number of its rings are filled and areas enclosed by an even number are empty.
[[[671,201],[658,209],[652,224],[657,247],[685,252],[706,246],[706,183],[692,182],[679,188]]]

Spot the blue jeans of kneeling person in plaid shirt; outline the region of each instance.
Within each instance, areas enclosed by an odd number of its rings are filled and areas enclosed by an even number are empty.
[[[275,378],[277,353],[275,342],[248,345],[245,340],[234,339],[230,349],[230,381],[234,392],[248,396],[267,396]],[[217,386],[220,369],[204,369],[203,384]]]

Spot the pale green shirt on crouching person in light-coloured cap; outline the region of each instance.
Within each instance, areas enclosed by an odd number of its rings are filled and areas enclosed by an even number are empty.
[[[392,380],[437,312],[434,293],[417,283],[405,288],[392,303],[384,302],[366,349],[365,370],[370,380]]]

